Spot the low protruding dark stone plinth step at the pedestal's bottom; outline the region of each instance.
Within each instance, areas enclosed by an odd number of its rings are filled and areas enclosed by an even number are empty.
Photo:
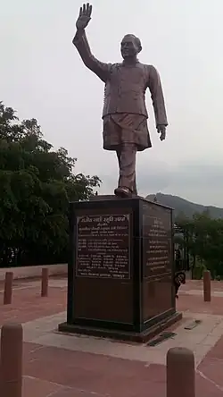
[[[167,329],[170,325],[173,325],[182,319],[182,313],[174,313],[170,317],[166,318],[165,321],[160,321],[155,325],[147,328],[142,333],[131,333],[127,331],[118,331],[112,329],[102,329],[90,326],[75,325],[62,323],[58,326],[58,330],[64,334],[84,334],[89,336],[96,336],[102,338],[111,338],[118,341],[131,341],[138,343],[146,343],[154,336],[160,334],[163,330]]]

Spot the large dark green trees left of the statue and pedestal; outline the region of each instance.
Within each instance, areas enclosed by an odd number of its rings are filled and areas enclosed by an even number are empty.
[[[0,102],[0,266],[67,261],[69,201],[100,185],[73,173],[76,161],[53,149],[36,119],[20,122]]]

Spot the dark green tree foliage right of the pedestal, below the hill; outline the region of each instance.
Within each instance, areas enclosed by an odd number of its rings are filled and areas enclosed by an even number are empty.
[[[213,219],[208,211],[194,214],[193,218],[178,216],[176,225],[183,232],[192,270],[196,263],[211,271],[212,278],[223,278],[223,219]],[[202,273],[201,273],[202,274]]]

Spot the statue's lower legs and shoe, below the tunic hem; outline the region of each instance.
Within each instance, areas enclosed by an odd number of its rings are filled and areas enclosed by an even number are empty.
[[[116,152],[120,165],[118,195],[120,190],[126,190],[127,195],[136,194],[136,151],[135,144],[125,143]]]

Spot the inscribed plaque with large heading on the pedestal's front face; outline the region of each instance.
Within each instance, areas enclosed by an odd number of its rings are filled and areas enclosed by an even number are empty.
[[[130,215],[77,217],[76,276],[130,279]]]

